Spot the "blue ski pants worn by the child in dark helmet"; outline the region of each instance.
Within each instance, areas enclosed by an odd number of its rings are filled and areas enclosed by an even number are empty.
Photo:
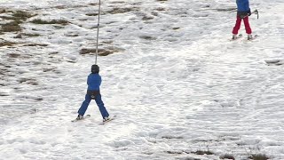
[[[101,116],[103,116],[103,118],[109,116],[108,112],[106,111],[105,104],[104,104],[103,100],[101,100],[100,94],[96,95],[95,100],[96,100],[96,103],[99,107],[99,111],[100,111]],[[91,102],[91,95],[86,94],[85,100],[83,101],[81,108],[79,108],[79,110],[78,110],[79,115],[83,116],[85,114],[90,102]]]

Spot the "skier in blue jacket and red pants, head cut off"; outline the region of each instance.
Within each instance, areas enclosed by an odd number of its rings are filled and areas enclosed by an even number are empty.
[[[248,0],[236,0],[236,3],[238,6],[238,12],[237,12],[236,24],[233,28],[233,39],[237,38],[238,31],[241,28],[241,19],[243,19],[246,32],[248,34],[248,40],[250,40],[252,39],[252,35],[251,35],[251,28],[249,27],[249,22],[248,22],[248,16],[251,15],[249,2]]]

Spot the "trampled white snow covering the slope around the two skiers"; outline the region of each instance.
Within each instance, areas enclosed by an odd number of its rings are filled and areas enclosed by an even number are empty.
[[[102,97],[117,116],[106,125],[99,125],[94,101],[86,113],[91,118],[70,122],[95,60],[79,52],[96,45],[97,17],[86,13],[98,5],[0,4],[70,21],[64,28],[22,24],[38,37],[1,35],[1,41],[48,44],[0,47],[1,158],[284,159],[282,1],[251,1],[261,11],[259,20],[250,18],[259,36],[253,42],[229,40],[235,12],[216,10],[234,8],[229,0],[104,1],[99,47],[119,51],[99,57]],[[116,8],[125,10],[109,13]]]

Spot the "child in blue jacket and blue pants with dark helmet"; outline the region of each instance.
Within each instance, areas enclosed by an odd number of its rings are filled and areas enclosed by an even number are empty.
[[[85,100],[83,101],[81,108],[79,108],[78,110],[78,116],[76,120],[83,119],[83,115],[85,114],[91,100],[96,100],[100,114],[101,116],[103,116],[103,122],[108,121],[109,115],[106,111],[104,102],[101,100],[101,95],[99,92],[99,85],[101,84],[101,76],[99,76],[98,65],[91,66],[91,74],[88,76],[87,84],[88,84],[87,94],[85,96]]]

